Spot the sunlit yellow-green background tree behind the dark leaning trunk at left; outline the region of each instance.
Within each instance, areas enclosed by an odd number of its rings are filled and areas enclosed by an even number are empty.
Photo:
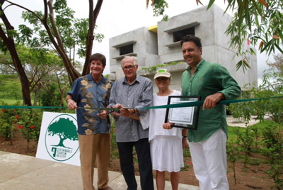
[[[47,86],[47,84],[50,84],[50,81],[55,82],[57,85],[56,91],[59,91],[60,96],[64,96],[67,90],[67,84],[69,84],[68,79],[66,79],[67,73],[64,72],[62,60],[53,50],[30,48],[25,47],[25,45],[17,45],[16,50],[18,51],[18,57],[21,59],[24,72],[28,77],[29,83],[26,87],[28,87],[30,93],[33,93],[34,105],[37,105],[37,94],[39,94],[40,91],[45,90],[49,92],[49,86]],[[0,60],[5,60],[4,62],[0,62],[0,68],[4,73],[16,73],[10,56],[5,55],[4,52],[0,52]],[[16,77],[16,79],[18,79],[18,77]],[[4,82],[8,83],[9,81],[4,80]],[[11,84],[13,85],[15,82],[13,81]],[[12,85],[8,91],[4,92],[11,92],[12,89],[18,91],[18,89],[16,89],[18,86]],[[63,98],[60,96],[59,100],[61,99],[61,101],[59,102],[63,103]],[[57,98],[58,97],[56,97],[56,99]],[[52,99],[55,99],[55,97],[52,96]],[[61,105],[64,106],[64,104]]]

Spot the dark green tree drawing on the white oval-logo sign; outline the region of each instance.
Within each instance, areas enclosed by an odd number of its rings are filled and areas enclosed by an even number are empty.
[[[60,142],[56,147],[65,147],[63,142],[66,139],[78,140],[78,134],[76,133],[76,125],[69,118],[59,118],[59,121],[52,123],[48,128],[48,135],[58,135]]]

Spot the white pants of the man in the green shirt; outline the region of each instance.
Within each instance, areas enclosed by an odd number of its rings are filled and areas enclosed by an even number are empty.
[[[226,158],[227,136],[217,130],[207,140],[190,142],[190,153],[195,177],[200,182],[200,190],[229,189]]]

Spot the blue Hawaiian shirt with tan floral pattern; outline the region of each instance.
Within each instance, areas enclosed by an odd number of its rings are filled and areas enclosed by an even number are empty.
[[[96,116],[98,111],[87,108],[108,106],[112,86],[113,83],[105,77],[102,77],[100,82],[96,83],[91,73],[79,77],[71,86],[71,91],[68,94],[76,101],[78,107],[86,108],[76,110],[79,135],[110,133],[109,118],[101,119]]]

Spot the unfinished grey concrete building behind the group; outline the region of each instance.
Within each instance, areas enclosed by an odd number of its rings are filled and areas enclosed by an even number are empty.
[[[224,14],[218,6],[213,5],[209,11],[207,6],[203,6],[171,17],[168,21],[160,21],[156,27],[142,27],[110,38],[110,79],[124,77],[121,60],[127,55],[137,57],[138,74],[150,79],[153,79],[154,71],[159,65],[175,62],[178,64],[167,65],[165,68],[171,71],[173,77],[171,89],[180,91],[181,76],[187,68],[187,64],[183,62],[180,40],[184,35],[194,34],[202,39],[202,57],[205,60],[226,67],[242,88],[245,84],[256,84],[256,55],[250,55],[247,60],[252,69],[236,71],[236,63],[243,58],[234,57],[236,51],[229,48],[230,38],[225,31],[231,20],[231,16]],[[251,47],[246,44],[243,49],[245,48]],[[154,91],[156,90],[154,86]]]

